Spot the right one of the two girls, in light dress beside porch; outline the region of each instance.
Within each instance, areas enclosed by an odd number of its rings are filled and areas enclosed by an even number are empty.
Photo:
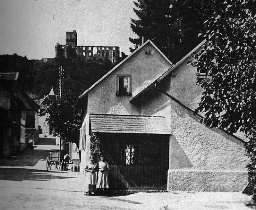
[[[101,156],[99,162],[99,172],[98,172],[98,181],[97,181],[97,189],[99,191],[106,191],[109,188],[109,179],[108,179],[108,170],[109,165],[105,161],[104,156]]]

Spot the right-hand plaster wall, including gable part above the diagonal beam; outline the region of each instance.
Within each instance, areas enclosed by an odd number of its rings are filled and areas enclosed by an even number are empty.
[[[194,110],[202,89],[195,86],[196,69],[187,61],[161,89]],[[206,127],[193,112],[160,92],[142,99],[141,112],[165,116],[170,123],[168,190],[240,191],[246,186],[248,159],[238,138]]]

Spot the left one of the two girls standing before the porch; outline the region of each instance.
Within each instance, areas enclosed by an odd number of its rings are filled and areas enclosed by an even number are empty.
[[[89,163],[87,163],[84,168],[84,171],[86,172],[84,195],[92,195],[92,193],[95,193],[97,185],[97,169],[97,163],[95,163],[93,156],[91,156]]]

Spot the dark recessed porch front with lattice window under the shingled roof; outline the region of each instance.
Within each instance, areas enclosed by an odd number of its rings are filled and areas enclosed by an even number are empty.
[[[167,188],[169,135],[98,133],[112,189]]]

